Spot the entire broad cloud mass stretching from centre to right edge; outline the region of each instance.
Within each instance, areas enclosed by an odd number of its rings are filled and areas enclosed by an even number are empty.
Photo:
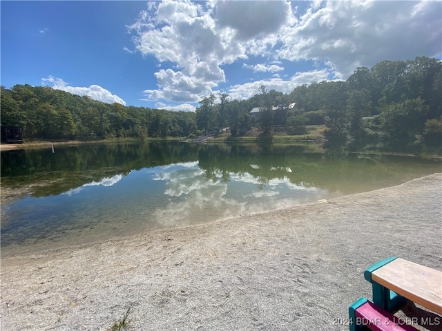
[[[235,96],[251,96],[260,85],[290,92],[313,80],[347,79],[358,66],[385,59],[440,57],[441,12],[440,1],[313,1],[298,6],[289,1],[167,0],[149,2],[128,30],[135,51],[161,66],[155,73],[157,88],[145,90],[146,97],[195,103],[227,83],[229,66],[239,61],[243,68],[267,74],[230,88]],[[253,62],[256,57],[268,63]],[[275,64],[281,60],[284,67]],[[318,70],[294,75],[290,70],[300,61],[314,61]]]

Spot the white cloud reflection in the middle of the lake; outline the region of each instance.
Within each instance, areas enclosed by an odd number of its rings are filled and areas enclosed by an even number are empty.
[[[152,178],[164,181],[163,194],[169,203],[153,212],[155,221],[163,226],[204,223],[308,203],[321,193],[318,188],[291,183],[288,177],[262,180],[248,172],[229,172],[229,181],[222,177],[222,172],[215,171],[215,177],[206,179],[198,162],[160,167]]]

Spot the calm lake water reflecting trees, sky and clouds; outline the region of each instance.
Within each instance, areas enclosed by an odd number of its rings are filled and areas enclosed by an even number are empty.
[[[131,143],[5,151],[1,254],[311,203],[441,170],[439,159],[336,157],[316,145]]]

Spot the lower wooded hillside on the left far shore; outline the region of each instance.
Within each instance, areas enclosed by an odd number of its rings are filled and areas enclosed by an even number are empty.
[[[188,137],[195,114],[103,103],[47,86],[1,86],[1,126],[35,139]]]

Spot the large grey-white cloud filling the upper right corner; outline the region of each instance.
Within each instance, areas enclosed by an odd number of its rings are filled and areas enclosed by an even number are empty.
[[[314,59],[346,79],[358,66],[441,55],[440,1],[327,1],[283,28],[281,59]]]

